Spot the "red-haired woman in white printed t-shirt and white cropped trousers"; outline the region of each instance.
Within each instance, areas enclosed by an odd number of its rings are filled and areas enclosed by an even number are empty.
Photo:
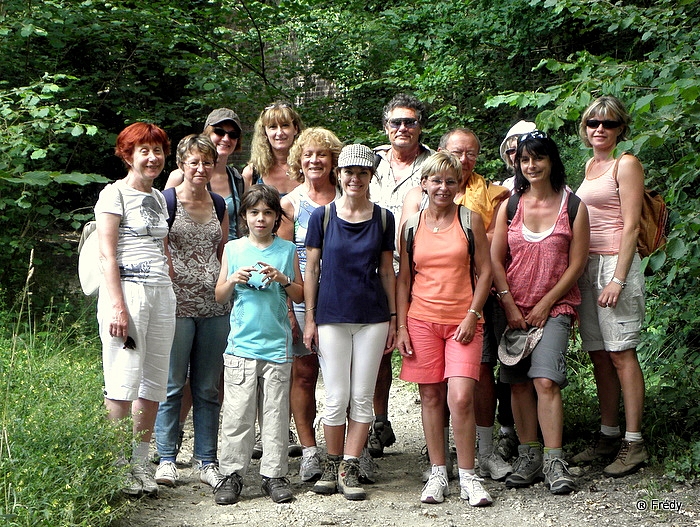
[[[158,403],[166,399],[175,294],[163,240],[165,198],[153,188],[170,153],[167,134],[134,123],[117,137],[115,153],[128,172],[107,185],[95,205],[100,265],[97,302],[108,418],[133,419],[131,472],[123,492],[157,494],[147,468]]]

